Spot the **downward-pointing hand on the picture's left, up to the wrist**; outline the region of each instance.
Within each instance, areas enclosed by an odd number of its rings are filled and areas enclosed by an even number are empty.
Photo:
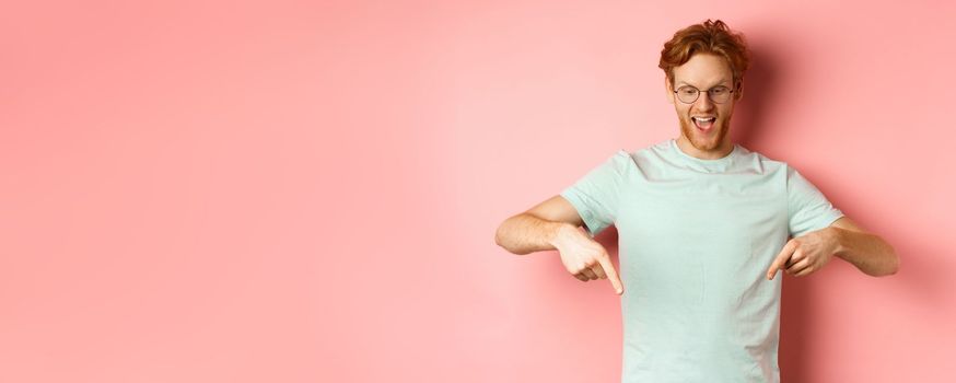
[[[561,255],[561,263],[568,272],[582,281],[592,279],[610,279],[618,295],[623,293],[623,283],[614,269],[610,256],[596,241],[570,224],[562,225],[552,241],[555,248]]]

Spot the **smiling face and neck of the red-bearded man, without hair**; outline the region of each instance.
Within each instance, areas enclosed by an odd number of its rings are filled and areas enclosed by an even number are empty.
[[[677,118],[680,121],[678,146],[688,154],[699,159],[719,159],[733,150],[727,132],[731,128],[731,116],[734,105],[743,95],[743,86],[734,86],[733,72],[723,57],[710,54],[693,55],[683,66],[674,68],[674,86],[666,79],[665,85],[669,102],[674,104]],[[685,104],[674,94],[681,86],[693,86],[700,90],[700,95],[692,104]],[[726,86],[732,90],[727,101],[714,103],[707,90],[714,86]],[[702,121],[696,117],[703,118]],[[713,118],[709,123],[707,118]]]

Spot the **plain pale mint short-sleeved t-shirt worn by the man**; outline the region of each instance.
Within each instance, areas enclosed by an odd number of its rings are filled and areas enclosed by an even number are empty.
[[[840,217],[785,162],[738,144],[718,160],[674,139],[619,150],[561,192],[591,235],[618,230],[622,376],[631,382],[779,382],[782,274],[790,236]]]

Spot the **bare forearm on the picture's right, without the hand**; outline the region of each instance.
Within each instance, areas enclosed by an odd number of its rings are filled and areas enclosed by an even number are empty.
[[[866,275],[881,277],[896,274],[899,269],[899,256],[896,251],[878,235],[840,229],[832,230],[837,241],[833,255],[853,264]]]

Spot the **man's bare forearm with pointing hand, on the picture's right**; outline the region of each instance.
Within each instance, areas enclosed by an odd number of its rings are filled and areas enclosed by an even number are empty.
[[[767,279],[773,279],[779,269],[795,277],[813,274],[833,256],[874,277],[899,270],[899,256],[893,246],[844,216],[827,228],[790,240],[767,270]]]

